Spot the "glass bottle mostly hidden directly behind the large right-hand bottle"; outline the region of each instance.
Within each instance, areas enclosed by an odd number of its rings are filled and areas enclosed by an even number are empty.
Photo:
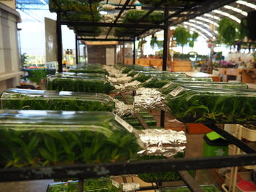
[[[242,82],[198,82],[198,81],[173,81],[171,85],[165,88],[159,88],[163,94],[168,94],[174,89],[178,88],[181,85],[186,86],[200,86],[200,87],[210,87],[210,88],[248,88],[248,85]]]

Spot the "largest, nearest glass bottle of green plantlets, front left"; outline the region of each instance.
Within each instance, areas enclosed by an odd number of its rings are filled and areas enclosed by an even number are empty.
[[[110,112],[7,114],[0,115],[1,167],[127,161],[140,150]]]

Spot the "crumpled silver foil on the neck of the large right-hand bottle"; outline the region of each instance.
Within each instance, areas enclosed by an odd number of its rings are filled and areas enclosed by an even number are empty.
[[[154,88],[139,88],[136,91],[134,106],[144,110],[163,110],[168,111],[164,103],[165,98]]]

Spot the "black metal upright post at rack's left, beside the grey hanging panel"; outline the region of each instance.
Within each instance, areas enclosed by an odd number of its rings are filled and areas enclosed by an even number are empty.
[[[61,34],[61,12],[57,13],[57,49],[58,49],[58,72],[63,72],[62,69],[62,34]]]

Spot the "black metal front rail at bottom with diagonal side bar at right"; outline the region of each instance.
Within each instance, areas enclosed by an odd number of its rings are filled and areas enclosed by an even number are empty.
[[[177,158],[169,160],[136,161],[107,164],[73,164],[67,166],[45,166],[28,168],[0,169],[0,181],[40,180],[55,178],[90,178],[109,175],[140,174],[148,172],[184,171],[191,169],[211,169],[227,166],[245,166],[256,164],[256,150],[244,145],[216,125],[206,124],[213,128],[227,141],[239,147],[246,155],[228,155],[207,158]],[[181,172],[182,173],[182,172]]]

